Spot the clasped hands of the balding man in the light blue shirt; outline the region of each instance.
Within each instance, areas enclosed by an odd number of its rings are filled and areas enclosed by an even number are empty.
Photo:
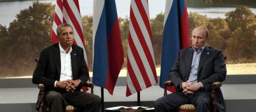
[[[201,88],[200,82],[183,82],[182,83],[182,88],[183,88],[183,93],[185,95],[189,94],[194,94],[194,92],[198,91]]]

